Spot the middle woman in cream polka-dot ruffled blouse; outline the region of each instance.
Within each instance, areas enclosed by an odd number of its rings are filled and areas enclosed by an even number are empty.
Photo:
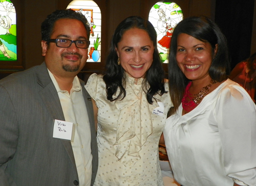
[[[88,79],[100,165],[94,185],[163,185],[158,143],[172,104],[156,37],[148,20],[124,19],[104,74]]]

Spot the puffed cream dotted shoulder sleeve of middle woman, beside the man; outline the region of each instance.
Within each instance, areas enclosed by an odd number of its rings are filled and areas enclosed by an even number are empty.
[[[87,84],[84,86],[90,96],[95,100],[96,94],[100,90],[100,87],[104,85],[104,81],[101,74],[93,73],[88,78]]]

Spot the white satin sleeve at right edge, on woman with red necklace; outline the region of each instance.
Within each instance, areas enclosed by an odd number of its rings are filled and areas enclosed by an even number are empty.
[[[242,87],[231,85],[219,93],[214,112],[226,175],[238,184],[256,185],[255,104]]]

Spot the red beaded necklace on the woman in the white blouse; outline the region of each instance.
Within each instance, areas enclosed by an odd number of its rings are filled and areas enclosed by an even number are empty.
[[[182,108],[186,112],[190,112],[191,110],[195,109],[197,105],[202,101],[202,99],[208,94],[209,88],[213,84],[216,84],[217,81],[211,79],[210,83],[206,87],[203,87],[198,94],[194,94],[194,95],[192,95],[188,90],[189,87],[191,86],[191,83],[192,82],[189,82],[187,84],[183,98],[181,100]]]

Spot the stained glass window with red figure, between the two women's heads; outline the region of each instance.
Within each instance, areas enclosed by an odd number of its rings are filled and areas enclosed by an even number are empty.
[[[157,2],[150,10],[148,20],[157,32],[157,47],[163,63],[168,63],[167,54],[175,26],[183,19],[183,13],[175,2]]]

